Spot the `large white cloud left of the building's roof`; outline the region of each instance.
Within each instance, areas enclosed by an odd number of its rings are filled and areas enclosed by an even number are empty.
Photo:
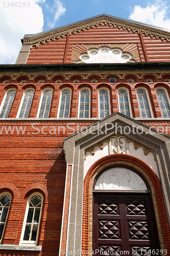
[[[13,0],[8,0],[8,2],[11,4]],[[41,32],[43,28],[43,13],[38,3],[44,3],[45,0],[29,0],[29,2],[19,0],[19,2],[21,2],[21,7],[7,8],[7,2],[0,0],[1,64],[15,63],[21,48],[20,38],[25,34]],[[23,3],[26,3],[26,7]]]

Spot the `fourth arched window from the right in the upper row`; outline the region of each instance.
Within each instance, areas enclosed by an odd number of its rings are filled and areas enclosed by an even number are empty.
[[[106,89],[99,91],[99,108],[100,108],[100,117],[104,118],[109,116],[109,95]]]

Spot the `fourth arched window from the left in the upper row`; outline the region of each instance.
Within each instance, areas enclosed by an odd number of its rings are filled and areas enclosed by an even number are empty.
[[[61,93],[60,113],[59,117],[69,117],[71,91],[65,89]]]

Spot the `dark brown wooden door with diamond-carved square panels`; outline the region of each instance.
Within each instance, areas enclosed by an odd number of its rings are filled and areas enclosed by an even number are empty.
[[[100,256],[152,255],[159,249],[154,218],[147,193],[94,193],[93,250]]]

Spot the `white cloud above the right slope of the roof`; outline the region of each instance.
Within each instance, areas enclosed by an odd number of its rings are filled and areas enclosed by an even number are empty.
[[[129,16],[130,19],[138,22],[154,25],[161,28],[170,28],[170,19],[167,18],[168,7],[165,1],[157,0],[147,7],[135,6]]]

